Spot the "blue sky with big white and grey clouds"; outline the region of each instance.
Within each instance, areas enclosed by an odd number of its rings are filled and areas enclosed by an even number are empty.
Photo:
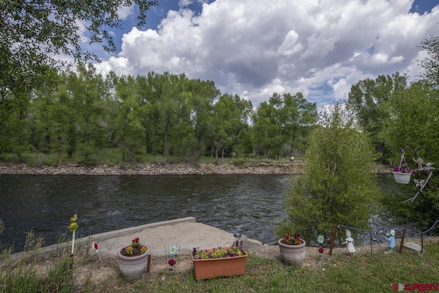
[[[158,0],[145,27],[121,10],[118,52],[97,71],[180,74],[250,99],[300,92],[318,108],[366,78],[418,78],[420,42],[439,35],[439,0]]]

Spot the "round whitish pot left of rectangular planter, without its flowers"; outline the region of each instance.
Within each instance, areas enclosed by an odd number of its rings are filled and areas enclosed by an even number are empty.
[[[128,280],[139,279],[147,266],[148,255],[150,254],[150,248],[146,245],[146,253],[143,255],[137,255],[135,257],[126,257],[121,255],[121,250],[117,251],[117,260],[119,262],[119,271]]]

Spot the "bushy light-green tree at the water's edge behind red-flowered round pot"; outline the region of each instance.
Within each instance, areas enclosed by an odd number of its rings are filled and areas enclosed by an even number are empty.
[[[322,117],[311,132],[305,175],[285,195],[288,218],[277,229],[307,239],[329,235],[335,224],[366,228],[375,211],[375,152],[364,132],[356,129],[340,104]]]

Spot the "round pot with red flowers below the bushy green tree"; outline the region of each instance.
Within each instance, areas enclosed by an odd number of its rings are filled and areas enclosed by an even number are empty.
[[[307,242],[299,234],[286,233],[285,237],[278,240],[282,260],[293,266],[302,266],[305,261]]]

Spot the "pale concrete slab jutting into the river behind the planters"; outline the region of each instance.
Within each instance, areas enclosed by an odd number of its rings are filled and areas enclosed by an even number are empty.
[[[130,245],[135,237],[139,237],[141,244],[149,246],[150,254],[156,256],[166,255],[169,246],[173,245],[180,248],[180,255],[189,255],[194,247],[198,249],[216,248],[219,246],[230,246],[235,242],[233,233],[196,222],[193,217],[187,217],[75,239],[75,248],[97,242],[99,245],[99,255],[117,257],[117,250],[123,248],[123,246]],[[241,239],[258,242],[257,240],[247,239],[245,235],[242,235]],[[12,255],[12,261],[16,262],[23,257],[32,256],[44,259],[52,251],[70,246],[71,242],[64,242],[26,253],[15,253]]]

